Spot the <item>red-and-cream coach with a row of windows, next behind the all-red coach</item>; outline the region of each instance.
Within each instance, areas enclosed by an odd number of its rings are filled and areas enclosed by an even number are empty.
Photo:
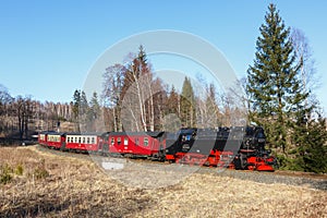
[[[101,137],[92,133],[71,133],[65,136],[65,149],[98,152]]]

